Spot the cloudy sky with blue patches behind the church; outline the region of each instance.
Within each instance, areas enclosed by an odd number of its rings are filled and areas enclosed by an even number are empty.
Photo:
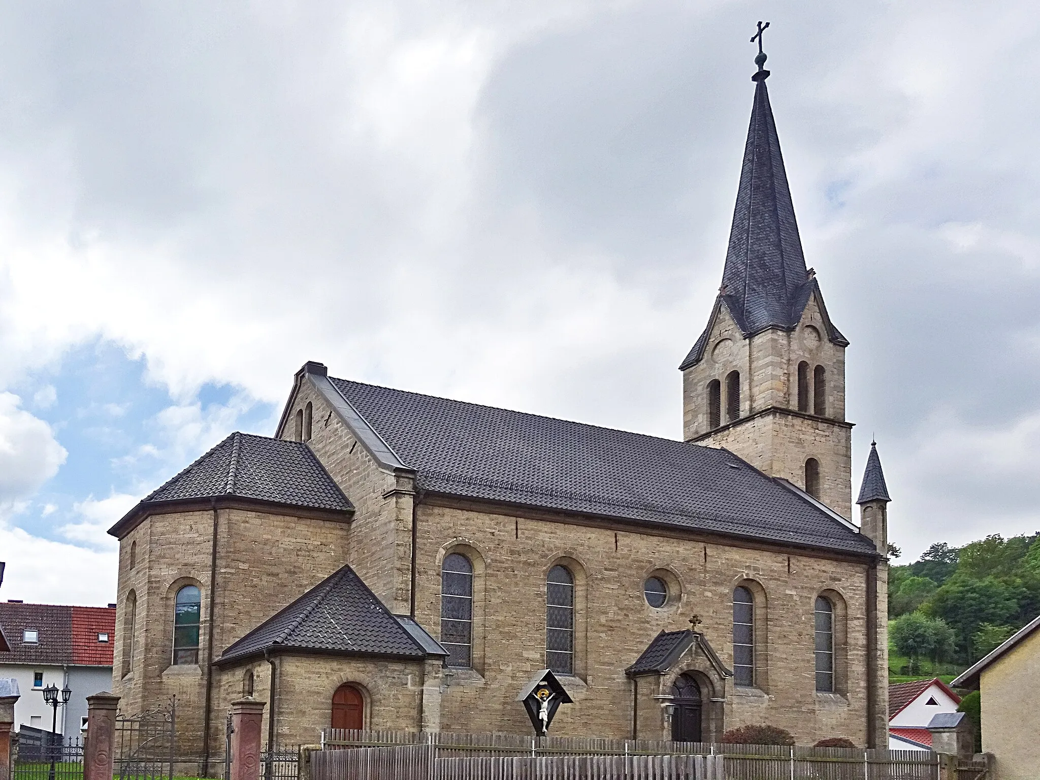
[[[900,562],[1040,528],[1025,2],[0,2],[3,598],[293,372],[681,436],[755,22]],[[898,562],[898,563],[900,563]]]

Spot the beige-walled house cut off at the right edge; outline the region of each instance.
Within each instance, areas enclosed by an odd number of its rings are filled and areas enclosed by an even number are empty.
[[[1040,766],[1040,616],[952,684],[979,691],[982,749],[996,759],[996,780],[1033,780]]]

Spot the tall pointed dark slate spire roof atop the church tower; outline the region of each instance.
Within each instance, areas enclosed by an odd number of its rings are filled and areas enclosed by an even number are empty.
[[[769,71],[758,75],[722,289],[711,317],[713,320],[718,308],[725,305],[745,337],[769,328],[792,330],[813,293],[823,306],[820,287],[809,275],[802,254],[795,205],[765,87]],[[826,311],[824,319],[828,338],[848,345]],[[700,362],[710,327],[709,321],[680,369]]]

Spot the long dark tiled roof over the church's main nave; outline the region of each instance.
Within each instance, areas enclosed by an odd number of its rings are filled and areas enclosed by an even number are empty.
[[[723,449],[331,380],[420,489],[796,544],[874,543]]]

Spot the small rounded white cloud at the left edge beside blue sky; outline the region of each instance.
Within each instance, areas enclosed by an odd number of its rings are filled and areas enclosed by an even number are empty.
[[[68,456],[50,425],[20,405],[14,393],[0,392],[0,506],[32,495]]]

